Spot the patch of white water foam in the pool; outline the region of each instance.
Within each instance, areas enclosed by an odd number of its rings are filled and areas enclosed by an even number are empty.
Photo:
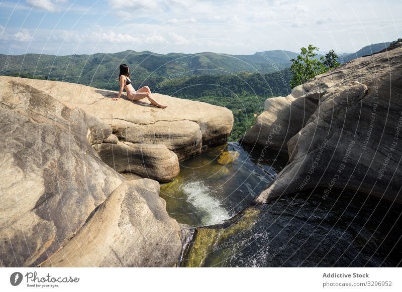
[[[205,210],[208,215],[202,219],[204,225],[223,223],[230,218],[229,212],[221,206],[217,198],[210,194],[213,192],[202,181],[195,181],[182,186],[187,200],[194,207]]]

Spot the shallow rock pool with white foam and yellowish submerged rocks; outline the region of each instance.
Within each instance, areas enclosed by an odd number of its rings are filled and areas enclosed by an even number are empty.
[[[249,153],[237,142],[225,144],[182,162],[178,177],[161,185],[160,196],[179,223],[223,223],[249,206],[286,162],[283,154],[261,157],[260,149]]]

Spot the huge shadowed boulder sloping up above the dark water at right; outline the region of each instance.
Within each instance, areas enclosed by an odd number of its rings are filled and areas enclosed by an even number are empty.
[[[316,76],[295,95],[261,129],[267,136],[274,122],[282,120],[281,128],[288,130],[276,136],[276,143],[287,144],[289,164],[256,201],[312,190],[325,199],[335,195],[335,189],[347,189],[401,203],[400,44]],[[298,111],[289,110],[301,99],[304,110],[298,105]],[[292,123],[293,118],[298,123]],[[255,135],[253,141],[259,143]]]

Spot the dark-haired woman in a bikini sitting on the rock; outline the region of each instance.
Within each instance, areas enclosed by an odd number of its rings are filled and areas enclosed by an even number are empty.
[[[119,74],[119,82],[120,82],[120,91],[119,96],[113,98],[113,100],[118,100],[122,95],[123,89],[127,92],[127,98],[130,100],[139,100],[143,98],[148,98],[151,102],[151,105],[155,105],[160,108],[166,108],[167,105],[160,104],[157,102],[151,94],[151,90],[148,86],[141,87],[137,91],[134,90],[133,85],[131,85],[131,80],[129,79],[129,67],[126,64],[120,65],[120,74]]]

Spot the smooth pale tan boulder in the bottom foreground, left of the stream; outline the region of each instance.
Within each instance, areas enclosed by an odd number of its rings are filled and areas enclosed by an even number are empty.
[[[124,182],[41,266],[174,266],[182,247],[180,227],[166,213],[166,203],[158,194],[156,181]]]

